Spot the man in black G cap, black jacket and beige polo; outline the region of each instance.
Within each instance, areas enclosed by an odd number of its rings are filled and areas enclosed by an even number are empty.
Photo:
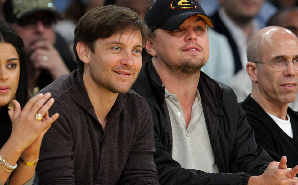
[[[233,90],[201,72],[215,26],[199,3],[157,0],[145,21],[152,59],[132,89],[151,108],[160,184],[298,183],[298,166],[286,169],[285,157],[272,162],[256,145]]]

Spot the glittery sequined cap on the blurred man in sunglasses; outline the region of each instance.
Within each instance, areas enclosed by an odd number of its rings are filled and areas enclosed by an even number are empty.
[[[40,11],[47,12],[56,19],[61,18],[52,0],[7,0],[3,5],[3,15],[8,22],[25,19]]]

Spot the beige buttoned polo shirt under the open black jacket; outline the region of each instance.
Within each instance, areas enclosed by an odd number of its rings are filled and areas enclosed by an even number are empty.
[[[173,159],[185,169],[218,173],[198,90],[187,129],[177,96],[165,90],[165,99],[173,132]]]

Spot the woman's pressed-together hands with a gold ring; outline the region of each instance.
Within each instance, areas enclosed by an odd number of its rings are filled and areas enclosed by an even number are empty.
[[[8,111],[12,122],[11,138],[17,138],[10,143],[23,151],[21,156],[28,160],[32,156],[37,158],[43,135],[59,117],[58,113],[49,117],[48,110],[54,103],[54,99],[50,97],[51,93],[38,94],[26,103],[23,110],[19,102],[14,100],[15,110]]]

